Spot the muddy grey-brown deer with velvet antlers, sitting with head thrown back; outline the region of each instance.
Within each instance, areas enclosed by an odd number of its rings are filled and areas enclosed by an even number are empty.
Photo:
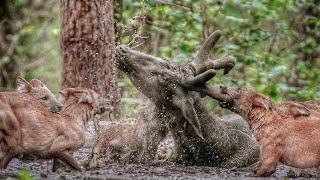
[[[178,163],[230,168],[258,160],[258,144],[245,121],[234,120],[241,121],[235,122],[241,130],[229,128],[231,122],[227,124],[212,116],[201,99],[203,95],[228,99],[219,88],[207,86],[216,70],[223,69],[227,74],[235,65],[232,56],[208,60],[220,36],[220,31],[212,33],[195,58],[186,63],[166,61],[127,46],[117,47],[115,60],[119,69],[154,104],[155,118],[147,122],[141,163],[154,160],[162,129],[172,133]]]

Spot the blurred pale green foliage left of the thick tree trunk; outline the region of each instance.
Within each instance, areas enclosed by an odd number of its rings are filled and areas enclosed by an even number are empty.
[[[6,36],[16,49],[13,58],[20,73],[28,80],[41,79],[57,92],[61,79],[59,2],[14,0],[11,5],[15,31]],[[0,57],[0,65],[7,60],[8,56]]]

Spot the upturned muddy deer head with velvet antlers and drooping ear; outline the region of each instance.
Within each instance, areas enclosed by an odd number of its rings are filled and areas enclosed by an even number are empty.
[[[227,74],[235,65],[232,56],[208,61],[210,50],[220,36],[220,31],[212,33],[194,60],[185,64],[168,62],[123,45],[117,47],[115,59],[118,67],[143,94],[160,108],[176,110],[191,125],[195,134],[203,139],[194,105],[195,98],[199,97],[197,92],[216,99],[230,99],[228,95],[221,94],[219,88],[207,84],[215,76],[215,70],[223,69]]]

